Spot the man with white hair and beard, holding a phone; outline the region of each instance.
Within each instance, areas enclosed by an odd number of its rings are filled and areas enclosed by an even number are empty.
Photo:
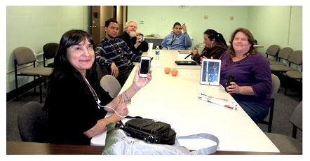
[[[123,34],[119,36],[119,38],[123,39],[129,46],[130,50],[137,55],[142,55],[143,52],[147,52],[149,50],[149,46],[147,42],[142,38],[142,42],[140,39],[140,31],[137,31],[137,22],[134,20],[130,20],[126,22],[126,31],[123,31]]]

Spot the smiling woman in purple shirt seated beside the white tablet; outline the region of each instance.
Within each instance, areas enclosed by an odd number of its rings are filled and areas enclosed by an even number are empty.
[[[220,83],[226,87],[229,75],[234,76],[227,91],[257,123],[269,113],[272,85],[269,62],[255,50],[254,40],[248,29],[234,31],[229,41],[231,45],[220,57]]]

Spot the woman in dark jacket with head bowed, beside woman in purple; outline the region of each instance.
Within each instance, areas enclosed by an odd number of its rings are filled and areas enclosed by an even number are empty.
[[[227,50],[227,43],[222,34],[213,29],[207,29],[203,35],[203,43],[205,43],[205,48],[203,48],[201,55],[198,54],[198,50],[193,50],[191,59],[199,64],[203,56],[207,58],[213,57],[213,59],[220,59],[220,56]]]

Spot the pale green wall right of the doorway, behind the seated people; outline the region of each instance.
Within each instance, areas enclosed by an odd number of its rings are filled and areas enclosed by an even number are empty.
[[[203,42],[205,29],[215,29],[229,41],[234,29],[245,27],[266,47],[262,53],[274,43],[302,50],[302,6],[128,6],[128,20],[136,20],[144,35],[160,36],[169,34],[175,22],[186,23],[193,44]]]

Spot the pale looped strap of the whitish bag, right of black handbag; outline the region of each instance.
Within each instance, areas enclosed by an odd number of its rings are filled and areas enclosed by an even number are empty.
[[[217,146],[219,146],[219,139],[215,137],[213,134],[201,133],[201,134],[192,134],[192,135],[177,137],[177,139],[199,139],[199,138],[215,141],[216,144],[214,146],[210,146],[207,148],[201,148],[195,151],[191,151],[191,154],[195,154],[195,155],[212,154],[217,151]]]

